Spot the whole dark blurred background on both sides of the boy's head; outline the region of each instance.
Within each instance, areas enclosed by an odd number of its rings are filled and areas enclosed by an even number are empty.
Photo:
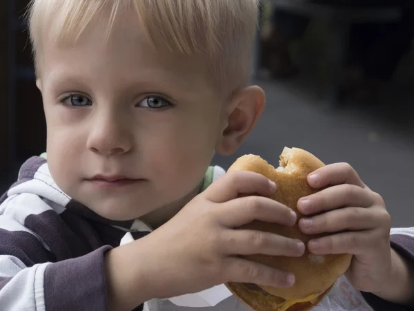
[[[28,0],[0,1],[1,191],[46,149],[26,26]],[[264,0],[252,83],[266,111],[237,155],[277,165],[300,147],[349,162],[382,194],[394,226],[414,225],[413,5],[391,0]],[[215,157],[228,168],[235,160]]]

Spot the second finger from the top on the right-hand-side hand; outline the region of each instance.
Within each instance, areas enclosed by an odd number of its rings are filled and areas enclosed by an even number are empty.
[[[297,202],[297,209],[304,215],[331,211],[341,207],[370,207],[375,198],[367,189],[355,185],[338,185],[326,188]]]

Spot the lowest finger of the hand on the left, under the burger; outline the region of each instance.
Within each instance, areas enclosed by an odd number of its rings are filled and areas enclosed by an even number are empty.
[[[234,257],[227,258],[224,279],[230,282],[253,283],[275,288],[290,288],[295,283],[293,274]]]

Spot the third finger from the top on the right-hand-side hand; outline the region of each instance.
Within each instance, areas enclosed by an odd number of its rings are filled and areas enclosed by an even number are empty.
[[[304,234],[375,229],[380,226],[381,217],[376,209],[346,207],[328,211],[312,218],[302,218],[299,220],[299,229]]]

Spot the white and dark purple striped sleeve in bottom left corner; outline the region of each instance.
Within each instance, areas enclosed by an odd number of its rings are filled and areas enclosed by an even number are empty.
[[[0,214],[1,310],[108,310],[104,254],[110,248],[54,262],[36,233]]]

